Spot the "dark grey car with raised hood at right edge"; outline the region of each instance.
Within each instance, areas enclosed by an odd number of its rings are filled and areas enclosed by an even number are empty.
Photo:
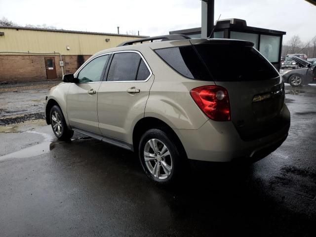
[[[315,79],[315,66],[300,57],[288,56],[292,61],[297,64],[297,69],[285,72],[282,75],[283,81],[289,83],[291,86],[302,86],[303,84],[309,84]]]

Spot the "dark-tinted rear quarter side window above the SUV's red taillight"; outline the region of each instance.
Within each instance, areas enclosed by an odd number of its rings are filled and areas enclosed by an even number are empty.
[[[212,80],[192,46],[156,49],[155,52],[181,75],[200,80]]]

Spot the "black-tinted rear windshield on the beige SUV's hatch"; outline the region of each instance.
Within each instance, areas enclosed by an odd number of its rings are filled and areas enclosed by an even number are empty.
[[[276,69],[251,46],[212,43],[194,47],[215,81],[253,81],[278,77]]]

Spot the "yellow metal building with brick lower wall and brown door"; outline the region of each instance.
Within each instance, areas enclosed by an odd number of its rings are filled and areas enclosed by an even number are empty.
[[[0,82],[59,79],[94,53],[144,36],[0,26]]]

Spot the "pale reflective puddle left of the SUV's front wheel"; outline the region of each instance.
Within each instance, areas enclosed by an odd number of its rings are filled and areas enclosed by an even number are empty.
[[[43,142],[40,144],[24,148],[20,151],[13,152],[4,156],[0,157],[0,161],[9,159],[9,158],[31,158],[31,157],[36,157],[40,156],[42,154],[45,154],[52,150],[54,146],[51,146],[53,137],[49,134],[46,133],[41,133],[41,132],[36,132],[36,131],[26,131],[27,133],[35,133],[43,136]]]

